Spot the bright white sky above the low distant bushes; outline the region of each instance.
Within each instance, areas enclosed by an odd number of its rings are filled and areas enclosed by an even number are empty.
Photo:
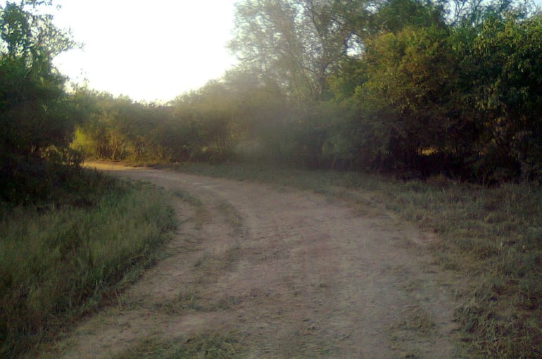
[[[224,75],[236,62],[235,0],[56,0],[58,27],[71,28],[82,50],[56,66],[70,80],[137,101],[169,101]]]

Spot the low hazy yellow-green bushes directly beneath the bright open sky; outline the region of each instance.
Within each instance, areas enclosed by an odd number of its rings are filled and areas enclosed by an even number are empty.
[[[87,121],[77,127],[74,149],[111,160],[179,162],[232,159],[237,103],[225,84],[210,82],[165,105],[134,103],[80,89]]]

